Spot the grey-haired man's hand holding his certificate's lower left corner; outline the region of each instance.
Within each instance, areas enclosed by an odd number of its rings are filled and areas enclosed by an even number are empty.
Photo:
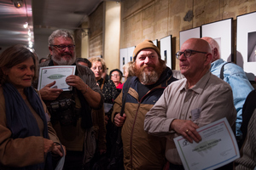
[[[55,85],[55,83],[56,83],[55,81],[50,82],[49,84],[44,86],[44,88],[39,90],[39,93],[41,94],[42,99],[55,100],[55,99],[57,99],[57,97],[59,97],[59,95],[63,92],[63,90],[60,88],[50,88],[53,85]]]

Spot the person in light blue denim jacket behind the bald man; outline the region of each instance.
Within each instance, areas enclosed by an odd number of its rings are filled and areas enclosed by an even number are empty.
[[[233,91],[234,105],[236,107],[236,140],[238,142],[239,148],[241,148],[241,122],[242,122],[242,106],[247,99],[247,95],[253,90],[253,86],[248,81],[245,72],[240,66],[227,63],[220,56],[220,50],[218,42],[216,42],[212,37],[202,37],[201,39],[206,40],[212,51],[212,64],[210,71],[213,75],[220,77],[221,68],[224,66],[224,81],[230,84]]]

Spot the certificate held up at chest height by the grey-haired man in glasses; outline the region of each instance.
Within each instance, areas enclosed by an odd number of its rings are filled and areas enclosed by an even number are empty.
[[[38,77],[38,90],[44,88],[50,82],[56,82],[51,88],[61,88],[63,91],[72,90],[71,86],[66,83],[66,78],[74,75],[76,65],[59,65],[59,66],[46,66],[41,67]]]

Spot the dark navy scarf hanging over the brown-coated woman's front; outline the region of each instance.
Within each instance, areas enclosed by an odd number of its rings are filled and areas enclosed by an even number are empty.
[[[34,111],[36,111],[38,116],[40,116],[44,122],[44,138],[49,139],[47,121],[41,99],[39,99],[38,94],[32,87],[25,88],[24,93],[26,94],[26,98],[30,105],[32,105]],[[25,100],[22,99],[17,88],[15,88],[15,86],[11,83],[5,83],[3,85],[3,95],[5,99],[7,127],[9,127],[12,133],[11,138],[17,139],[26,138],[28,136],[40,136],[38,122],[32,115],[32,111],[30,111],[29,107],[26,105]],[[15,169],[38,170],[44,168],[52,169],[50,153],[47,154],[45,163],[27,167],[17,167]]]

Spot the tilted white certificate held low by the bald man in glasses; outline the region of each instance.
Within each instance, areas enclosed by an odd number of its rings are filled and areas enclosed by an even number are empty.
[[[215,169],[240,157],[236,138],[225,117],[196,130],[202,139],[199,143],[191,144],[182,136],[174,139],[186,170]]]

